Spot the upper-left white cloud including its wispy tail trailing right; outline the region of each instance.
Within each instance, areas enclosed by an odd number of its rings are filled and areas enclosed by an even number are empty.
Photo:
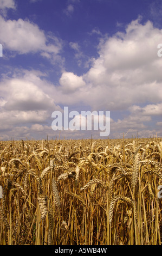
[[[5,20],[0,16],[0,33],[3,48],[18,54],[40,52],[43,57],[58,60],[62,49],[62,40],[51,34],[46,35],[29,20]]]

